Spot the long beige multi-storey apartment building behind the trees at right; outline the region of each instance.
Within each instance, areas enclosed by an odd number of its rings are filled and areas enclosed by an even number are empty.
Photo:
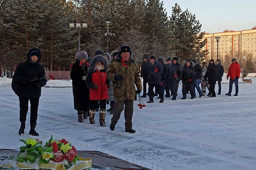
[[[256,66],[256,27],[247,30],[233,31],[225,30],[222,33],[205,33],[204,40],[207,39],[204,50],[208,49],[209,54],[205,56],[205,61],[217,60],[217,41],[219,39],[219,59],[225,61],[232,57],[246,59],[251,56]],[[228,58],[227,58],[228,57]]]

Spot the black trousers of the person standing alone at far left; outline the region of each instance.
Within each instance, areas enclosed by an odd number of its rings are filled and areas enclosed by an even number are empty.
[[[30,123],[36,123],[39,97],[36,97],[36,98],[19,97],[19,100],[20,100],[20,122],[26,122],[27,120],[28,101],[30,101]]]

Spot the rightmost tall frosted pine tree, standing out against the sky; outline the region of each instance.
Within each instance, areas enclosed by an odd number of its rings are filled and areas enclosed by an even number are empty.
[[[186,9],[182,12],[180,5],[175,3],[172,7],[171,29],[173,30],[172,50],[176,51],[176,56],[182,60],[196,58],[198,61],[204,60],[208,54],[207,50],[201,50],[206,44],[206,39],[202,41],[204,32],[200,33],[201,24],[196,20],[195,15]]]

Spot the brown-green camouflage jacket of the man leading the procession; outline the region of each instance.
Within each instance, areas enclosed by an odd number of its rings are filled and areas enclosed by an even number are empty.
[[[135,85],[137,90],[142,89],[139,75],[140,70],[135,60],[131,57],[128,61],[124,62],[128,67],[123,66],[121,60],[122,58],[117,56],[109,64],[107,78],[113,81],[114,98],[116,101],[134,100],[136,96]],[[116,81],[116,74],[122,75],[123,80]]]

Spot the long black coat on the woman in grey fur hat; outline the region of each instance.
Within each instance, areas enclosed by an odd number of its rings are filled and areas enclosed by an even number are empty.
[[[70,71],[70,78],[72,80],[74,109],[88,110],[90,108],[89,88],[87,87],[83,76],[87,75],[88,65],[80,64],[76,60]]]

